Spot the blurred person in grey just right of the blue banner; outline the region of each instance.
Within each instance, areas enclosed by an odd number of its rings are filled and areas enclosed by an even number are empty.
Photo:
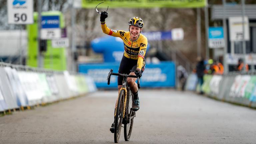
[[[179,84],[180,84],[181,90],[184,91],[185,90],[185,84],[186,84],[186,81],[187,81],[187,78],[188,78],[188,73],[182,65],[179,65],[177,67],[177,76],[178,76],[178,79],[179,79]]]

